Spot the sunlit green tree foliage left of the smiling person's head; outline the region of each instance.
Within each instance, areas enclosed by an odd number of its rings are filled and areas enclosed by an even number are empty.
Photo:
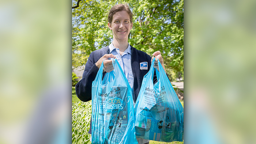
[[[74,2],[74,5],[76,1]],[[84,0],[72,9],[72,66],[86,64],[89,54],[109,45],[112,32],[108,29],[108,11],[112,1]]]

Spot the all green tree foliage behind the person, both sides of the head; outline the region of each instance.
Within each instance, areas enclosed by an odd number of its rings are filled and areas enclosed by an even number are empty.
[[[149,55],[159,50],[167,73],[183,75],[183,0],[80,1],[72,9],[72,66],[84,65],[91,52],[112,42],[108,12],[120,3],[127,3],[134,14],[128,42]]]

